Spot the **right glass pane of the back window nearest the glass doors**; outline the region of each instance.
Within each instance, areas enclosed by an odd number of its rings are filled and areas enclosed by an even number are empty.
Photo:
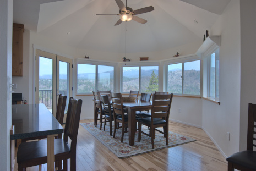
[[[114,67],[98,66],[98,89],[114,91]]]

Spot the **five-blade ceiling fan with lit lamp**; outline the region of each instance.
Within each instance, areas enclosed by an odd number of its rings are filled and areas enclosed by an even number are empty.
[[[134,21],[137,21],[138,23],[145,24],[147,20],[144,20],[134,15],[148,13],[154,10],[154,7],[152,6],[133,10],[132,8],[127,7],[127,0],[126,0],[125,6],[121,0],[115,0],[115,1],[120,9],[119,14],[96,14],[96,15],[119,15],[120,19],[117,21],[115,25],[121,24],[122,21],[130,21],[130,20],[134,20]]]

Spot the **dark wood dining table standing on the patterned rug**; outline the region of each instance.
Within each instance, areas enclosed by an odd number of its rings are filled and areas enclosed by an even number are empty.
[[[136,131],[136,111],[150,110],[152,102],[149,101],[124,101],[124,108],[128,109],[128,126],[129,126],[129,145],[134,145],[135,131]]]

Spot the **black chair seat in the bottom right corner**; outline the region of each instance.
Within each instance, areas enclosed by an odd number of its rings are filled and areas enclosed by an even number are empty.
[[[256,151],[246,150],[237,152],[227,158],[228,162],[239,164],[245,168],[256,170]]]

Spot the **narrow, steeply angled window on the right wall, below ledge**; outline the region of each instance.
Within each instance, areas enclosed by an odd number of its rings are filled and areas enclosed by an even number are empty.
[[[208,57],[208,97],[219,98],[219,48]]]

